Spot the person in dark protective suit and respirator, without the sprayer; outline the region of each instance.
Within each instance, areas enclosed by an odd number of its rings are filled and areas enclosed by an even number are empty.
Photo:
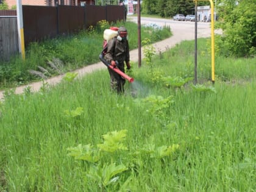
[[[117,37],[113,37],[108,41],[105,60],[113,67],[118,67],[123,73],[124,62],[126,62],[127,69],[130,69],[130,52],[126,27],[119,27]],[[110,68],[108,68],[108,73],[110,74],[111,88],[117,93],[123,93],[126,80]]]

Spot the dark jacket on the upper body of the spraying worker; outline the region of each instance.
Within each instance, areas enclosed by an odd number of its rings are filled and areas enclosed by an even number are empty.
[[[121,65],[124,65],[124,62],[130,62],[128,41],[126,39],[119,41],[116,37],[109,40],[105,59],[109,63],[111,60],[117,60]]]

